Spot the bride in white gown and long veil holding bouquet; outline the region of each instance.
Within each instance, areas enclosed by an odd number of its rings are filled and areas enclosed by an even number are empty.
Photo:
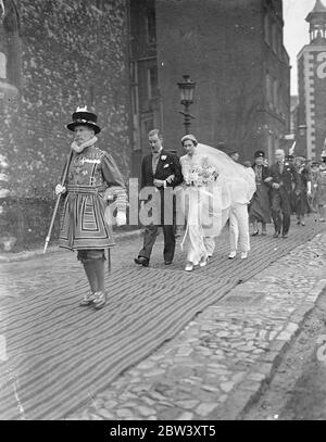
[[[215,248],[214,238],[227,222],[231,204],[249,201],[255,182],[246,167],[218,149],[198,143],[193,135],[183,137],[181,144],[186,150],[180,164],[187,219],[181,248],[188,238],[185,270],[191,271],[196,265],[208,264]]]

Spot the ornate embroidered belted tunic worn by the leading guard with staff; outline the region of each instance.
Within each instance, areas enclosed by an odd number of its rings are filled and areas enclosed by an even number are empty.
[[[123,177],[113,157],[96,144],[73,153],[64,184],[59,245],[71,250],[105,249],[115,244],[105,222],[105,190],[118,186],[126,197]],[[126,201],[126,198],[125,198]]]

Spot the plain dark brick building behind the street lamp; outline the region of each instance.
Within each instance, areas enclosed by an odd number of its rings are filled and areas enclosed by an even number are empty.
[[[190,108],[196,119],[190,131],[199,140],[213,146],[224,142],[238,149],[242,160],[264,149],[272,160],[290,124],[283,2],[146,3],[133,0],[130,11],[133,85],[138,105],[134,114],[135,166],[147,149],[146,132],[153,124],[163,128],[165,146],[181,153],[184,127],[178,111],[183,106],[177,83],[185,74],[197,83]],[[141,8],[143,13],[139,13]]]

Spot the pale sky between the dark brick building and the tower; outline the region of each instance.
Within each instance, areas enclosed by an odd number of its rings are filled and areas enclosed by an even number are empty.
[[[326,0],[322,0],[326,5]],[[291,96],[298,94],[297,55],[309,45],[309,23],[306,15],[313,10],[316,0],[283,0],[284,13],[284,46],[290,56]]]

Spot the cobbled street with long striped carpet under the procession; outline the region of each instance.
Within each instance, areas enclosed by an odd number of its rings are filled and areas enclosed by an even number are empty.
[[[241,419],[326,286],[324,226],[312,216],[305,227],[292,220],[288,239],[273,239],[269,226],[267,237],[252,238],[246,261],[227,260],[225,231],[209,266],[190,275],[178,248],[174,264],[164,266],[161,237],[149,268],[133,263],[140,237],[120,241],[106,280],[110,301],[97,313],[78,310],[87,285],[71,253],[51,249],[24,261],[1,256],[0,374],[9,401],[1,404],[2,418]],[[100,317],[109,326],[95,333],[91,324],[104,324]],[[29,327],[33,318],[36,330]],[[26,330],[23,351],[14,331]],[[47,330],[57,343],[53,359],[50,341],[40,338]],[[87,382],[75,389],[79,375],[67,370],[90,357],[91,342],[103,353],[101,370],[87,365]],[[38,377],[29,375],[32,368]],[[70,400],[60,402],[62,392],[51,386],[35,405],[34,391],[41,387],[35,382],[42,382],[43,371],[45,386],[61,374]],[[49,406],[53,392],[58,401]]]

